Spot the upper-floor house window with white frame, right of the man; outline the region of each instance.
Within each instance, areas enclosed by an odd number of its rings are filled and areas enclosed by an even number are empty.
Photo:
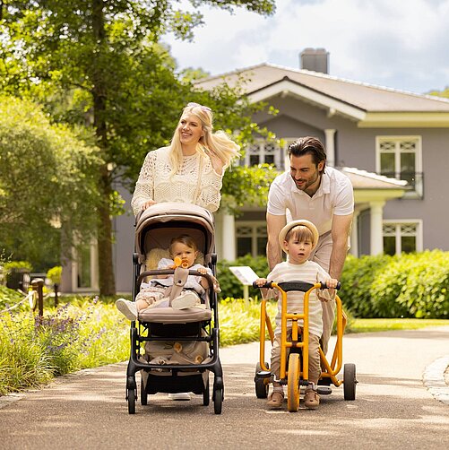
[[[376,149],[376,171],[385,177],[407,181],[410,192],[406,193],[405,197],[422,197],[423,177],[420,137],[377,137]]]

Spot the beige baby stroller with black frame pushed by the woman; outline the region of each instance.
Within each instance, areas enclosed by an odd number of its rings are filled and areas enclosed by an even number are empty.
[[[176,283],[177,271],[203,276],[211,288],[206,292],[204,308],[144,309],[139,313],[139,320],[131,323],[131,355],[126,371],[128,412],[135,413],[135,374],[138,371],[141,371],[142,405],[147,404],[148,394],[192,392],[203,394],[205,406],[210,403],[209,373],[212,372],[212,402],[215,414],[220,414],[224,385],[219,357],[217,294],[212,287],[212,277],[181,267],[148,270],[151,258],[156,261],[164,252],[168,253],[171,238],[188,234],[201,252],[199,257],[202,260],[197,258],[197,262],[209,267],[215,276],[217,256],[214,253],[212,213],[193,204],[158,203],[137,217],[135,227],[134,300],[146,277],[174,274]],[[154,258],[154,255],[157,256]]]

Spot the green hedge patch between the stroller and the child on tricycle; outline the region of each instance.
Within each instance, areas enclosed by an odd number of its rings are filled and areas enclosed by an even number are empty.
[[[265,278],[270,272],[265,256],[257,256],[254,258],[251,255],[246,255],[237,258],[236,261],[227,261],[225,259],[219,261],[217,263],[217,279],[220,281],[220,299],[226,299],[228,297],[239,299],[243,296],[242,283],[238,281],[237,277],[229,270],[229,266],[234,265],[247,265],[261,278]],[[252,286],[249,287],[248,293],[252,298],[260,298],[260,290],[256,290]]]

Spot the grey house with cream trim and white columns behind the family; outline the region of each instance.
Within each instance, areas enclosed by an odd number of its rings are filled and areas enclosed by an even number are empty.
[[[301,60],[301,69],[261,64],[197,83],[209,90],[221,82],[235,85],[243,77],[249,100],[279,110],[277,116],[257,113],[254,120],[281,138],[283,146],[257,141],[241,163],[288,169],[289,143],[314,135],[325,145],[327,163],[346,173],[354,186],[353,255],[449,250],[449,101],[326,74],[323,49],[306,49]],[[122,193],[129,205],[130,195]],[[131,290],[133,223],[131,213],[115,219],[118,291]],[[237,218],[218,212],[216,231],[220,259],[264,254],[263,208],[248,205]],[[73,281],[76,270],[74,264]]]

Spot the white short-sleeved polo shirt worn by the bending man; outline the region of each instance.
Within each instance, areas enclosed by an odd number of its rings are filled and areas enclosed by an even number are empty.
[[[307,219],[321,235],[332,229],[332,215],[354,212],[354,192],[350,178],[331,167],[324,169],[315,195],[310,197],[298,189],[289,171],[274,179],[268,194],[267,212],[287,216],[287,221]]]

